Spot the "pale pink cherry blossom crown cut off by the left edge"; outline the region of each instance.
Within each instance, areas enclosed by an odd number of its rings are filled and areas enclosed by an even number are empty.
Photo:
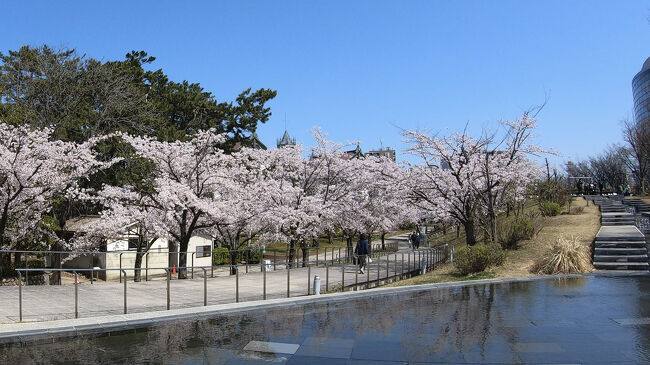
[[[79,179],[112,165],[92,147],[53,140],[49,129],[30,130],[0,123],[0,248],[12,249],[39,231],[57,196],[74,190]]]

